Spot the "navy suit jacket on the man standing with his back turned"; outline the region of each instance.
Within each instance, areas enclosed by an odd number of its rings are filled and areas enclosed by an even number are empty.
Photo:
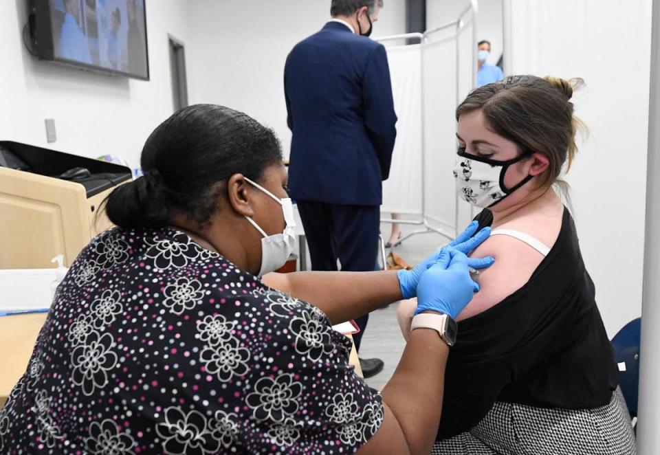
[[[383,45],[329,22],[291,51],[284,87],[291,197],[380,206],[397,135]]]

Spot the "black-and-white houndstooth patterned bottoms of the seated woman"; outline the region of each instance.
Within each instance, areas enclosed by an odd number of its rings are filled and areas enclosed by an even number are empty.
[[[432,455],[634,455],[635,434],[624,396],[588,410],[496,402],[481,422],[435,443]]]

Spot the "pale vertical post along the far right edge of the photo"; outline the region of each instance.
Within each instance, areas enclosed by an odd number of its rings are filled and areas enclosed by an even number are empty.
[[[660,0],[653,0],[637,450],[660,453]]]

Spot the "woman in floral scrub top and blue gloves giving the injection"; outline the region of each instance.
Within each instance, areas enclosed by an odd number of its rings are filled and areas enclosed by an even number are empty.
[[[1,453],[430,452],[468,267],[492,263],[465,253],[489,231],[398,274],[267,275],[293,245],[281,162],[272,131],[225,107],[157,127],[145,176],[107,200],[118,228],[58,288],[0,411]],[[419,329],[379,394],[331,324],[412,296]]]

